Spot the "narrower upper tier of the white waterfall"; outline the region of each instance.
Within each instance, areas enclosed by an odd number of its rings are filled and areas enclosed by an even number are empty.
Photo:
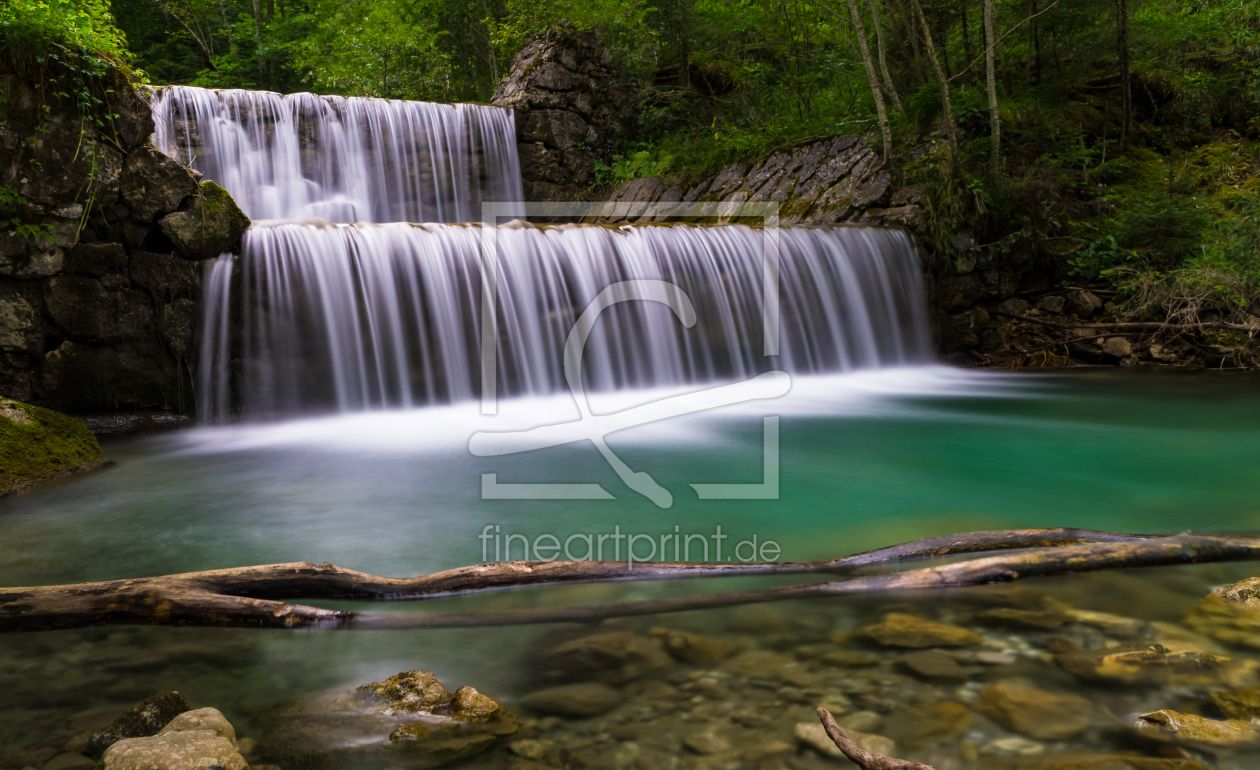
[[[154,145],[251,219],[470,222],[524,197],[499,107],[169,86],[154,124]]]

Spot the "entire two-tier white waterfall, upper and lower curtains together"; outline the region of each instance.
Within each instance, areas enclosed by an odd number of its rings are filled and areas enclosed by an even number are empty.
[[[156,93],[154,118],[154,144],[255,219],[239,260],[205,268],[203,420],[475,398],[488,232],[501,394],[564,388],[575,319],[635,279],[678,285],[698,323],[654,302],[612,307],[586,348],[590,389],[930,357],[916,252],[896,231],[777,231],[781,349],[766,357],[764,231],[436,224],[523,199],[507,110],[173,86]]]

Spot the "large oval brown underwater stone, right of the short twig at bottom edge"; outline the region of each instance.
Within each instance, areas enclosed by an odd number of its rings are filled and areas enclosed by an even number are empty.
[[[1009,682],[987,687],[973,707],[1007,730],[1041,741],[1070,738],[1094,722],[1094,706],[1081,696]]]

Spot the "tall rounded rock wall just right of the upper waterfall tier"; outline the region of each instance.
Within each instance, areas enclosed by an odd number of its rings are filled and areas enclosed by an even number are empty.
[[[634,117],[635,88],[591,33],[552,30],[512,62],[493,102],[515,113],[525,200],[585,200],[595,160]]]

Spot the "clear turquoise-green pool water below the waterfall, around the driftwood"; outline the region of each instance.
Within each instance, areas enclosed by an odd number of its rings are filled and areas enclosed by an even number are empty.
[[[503,457],[466,451],[475,430],[542,421],[544,412],[576,415],[564,398],[505,405],[494,423],[475,406],[452,406],[117,440],[105,445],[111,468],[0,502],[0,581],[63,583],[284,561],[420,575],[480,562],[478,536],[488,524],[530,539],[606,533],[614,524],[622,532],[664,534],[678,526],[709,534],[721,524],[728,544],[757,534],[776,541],[786,560],[984,528],[1250,532],[1260,528],[1257,384],[1249,374],[1042,376],[936,367],[798,378],[777,405],[777,500],[697,500],[687,486],[760,479],[760,420],[751,410],[610,439],[631,468],[674,491],[670,509],[627,490],[588,444]],[[627,397],[600,396],[595,411]],[[498,473],[500,481],[596,481],[617,499],[481,500],[483,473]],[[1176,620],[1213,583],[1247,572],[1247,566],[1208,566],[1028,585],[1087,609]],[[425,609],[542,606],[762,583],[537,589],[433,600]],[[852,624],[854,614],[878,609],[868,600],[798,602],[790,607],[796,625],[786,630],[804,639],[806,626]],[[651,623],[719,634],[728,616]],[[436,672],[451,689],[474,684],[510,703],[541,686],[529,650],[544,633],[146,628],[6,636],[0,746],[64,731],[68,715],[163,688],[223,710],[242,735],[251,735],[251,715],[281,698],[415,668]],[[1058,681],[1056,688],[1070,686]]]

